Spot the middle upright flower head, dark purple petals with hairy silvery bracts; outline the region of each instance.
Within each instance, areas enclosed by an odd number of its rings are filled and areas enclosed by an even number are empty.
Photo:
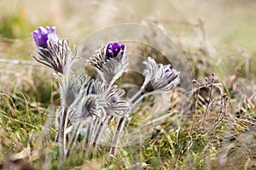
[[[127,59],[124,44],[108,42],[107,46],[96,51],[89,59],[89,63],[96,67],[104,83],[112,85],[123,72],[127,71]]]

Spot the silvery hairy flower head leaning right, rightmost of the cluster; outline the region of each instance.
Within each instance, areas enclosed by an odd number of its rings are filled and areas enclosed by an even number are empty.
[[[145,93],[169,91],[179,84],[179,72],[170,68],[170,65],[156,64],[150,57],[143,63],[146,65],[145,81],[142,87]]]

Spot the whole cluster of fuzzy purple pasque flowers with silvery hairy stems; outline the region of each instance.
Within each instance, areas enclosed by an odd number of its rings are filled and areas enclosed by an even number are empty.
[[[124,44],[108,42],[86,60],[96,68],[102,79],[95,80],[84,73],[79,76],[73,74],[71,65],[75,56],[71,53],[67,39],[59,39],[56,35],[55,27],[39,27],[32,32],[32,36],[39,54],[38,57],[32,57],[51,68],[59,82],[61,106],[55,118],[58,130],[55,139],[64,156],[68,156],[73,150],[79,135],[84,137],[88,151],[94,143],[110,142],[113,144],[111,152],[114,154],[124,122],[137,100],[153,92],[169,91],[179,84],[179,73],[175,69],[170,65],[157,64],[148,57],[144,61],[145,81],[140,91],[141,97],[124,99],[125,90],[114,85],[128,71],[128,56]],[[116,132],[111,137],[113,131],[108,127],[114,118],[117,120]]]

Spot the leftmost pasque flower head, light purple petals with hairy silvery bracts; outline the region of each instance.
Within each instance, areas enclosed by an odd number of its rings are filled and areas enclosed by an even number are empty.
[[[59,40],[55,27],[40,26],[32,32],[39,57],[32,55],[39,63],[49,66],[55,73],[66,74],[72,63],[71,51],[67,39]]]

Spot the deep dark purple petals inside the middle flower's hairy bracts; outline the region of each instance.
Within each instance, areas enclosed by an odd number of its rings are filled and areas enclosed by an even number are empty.
[[[109,42],[106,48],[106,58],[105,61],[108,59],[116,58],[119,54],[123,55],[125,51],[125,45],[119,44],[118,42]]]

